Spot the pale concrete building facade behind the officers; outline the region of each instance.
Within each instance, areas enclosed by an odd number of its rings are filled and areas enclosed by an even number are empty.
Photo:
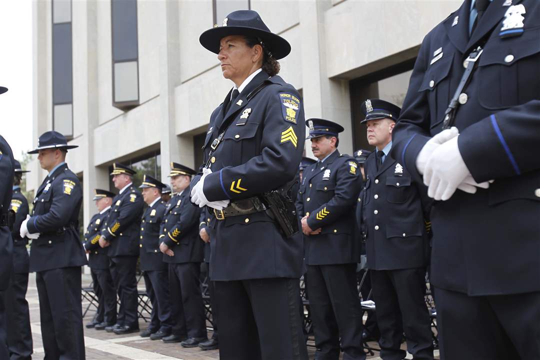
[[[236,9],[258,11],[292,46],[282,76],[306,118],[340,123],[340,150],[369,148],[360,104],[401,105],[426,33],[461,0],[44,0],[33,2],[33,142],[63,132],[84,187],[111,188],[114,161],[167,182],[170,161],[198,168],[211,112],[232,83],[199,35]],[[225,15],[224,15],[225,14]],[[203,135],[201,135],[203,134]],[[308,156],[309,142],[306,142]],[[46,173],[29,166],[28,188]],[[163,171],[161,170],[163,169]]]

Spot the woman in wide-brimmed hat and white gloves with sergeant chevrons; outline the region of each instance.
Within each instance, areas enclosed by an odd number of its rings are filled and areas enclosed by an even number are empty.
[[[263,193],[289,188],[302,157],[300,95],[277,76],[291,45],[251,10],[230,13],[199,41],[234,83],[210,117],[206,166],[191,187],[191,200],[214,213],[210,277],[220,358],[306,359],[300,313],[290,305],[298,303],[301,239],[282,235],[261,202]],[[289,233],[294,215],[282,220]]]

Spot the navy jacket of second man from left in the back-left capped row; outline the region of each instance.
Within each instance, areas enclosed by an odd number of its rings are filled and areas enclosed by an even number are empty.
[[[139,256],[140,221],[143,215],[143,196],[131,184],[122,194],[114,196],[102,230],[111,242],[109,256]]]

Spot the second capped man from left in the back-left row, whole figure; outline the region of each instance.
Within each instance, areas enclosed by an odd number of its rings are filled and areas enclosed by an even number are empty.
[[[143,198],[133,186],[132,168],[115,162],[112,170],[114,187],[119,189],[107,216],[107,225],[99,237],[99,246],[109,249],[110,269],[114,286],[120,298],[117,323],[106,327],[114,334],[139,331],[137,315],[137,257],[139,255],[140,221]]]

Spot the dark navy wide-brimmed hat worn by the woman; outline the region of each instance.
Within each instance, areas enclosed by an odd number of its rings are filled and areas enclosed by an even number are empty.
[[[201,45],[213,53],[219,53],[219,42],[230,35],[257,37],[262,41],[264,49],[275,59],[282,59],[291,52],[291,44],[284,38],[268,29],[257,11],[233,11],[224,19],[222,26],[215,25],[199,37]]]

